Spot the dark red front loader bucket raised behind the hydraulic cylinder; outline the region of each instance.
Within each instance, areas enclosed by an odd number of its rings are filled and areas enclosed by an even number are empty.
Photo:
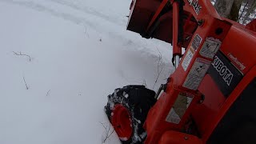
[[[141,34],[144,38],[157,38],[173,43],[173,23],[179,21],[180,45],[187,47],[198,22],[193,14],[183,10],[183,6],[180,6],[178,13],[174,13],[173,9],[169,0],[133,0],[127,30]],[[179,14],[180,18],[174,18],[174,14]]]

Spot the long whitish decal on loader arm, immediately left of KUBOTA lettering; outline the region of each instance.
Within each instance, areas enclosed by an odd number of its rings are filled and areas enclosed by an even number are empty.
[[[197,90],[209,66],[210,61],[202,58],[197,58],[189,74],[186,76],[186,80],[183,83],[183,86],[190,90]]]

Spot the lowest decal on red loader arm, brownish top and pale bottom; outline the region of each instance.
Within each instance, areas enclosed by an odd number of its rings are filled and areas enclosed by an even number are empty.
[[[186,109],[190,106],[193,98],[194,96],[191,94],[178,94],[178,98],[174,102],[174,106],[172,106],[169,114],[166,117],[166,122],[178,124],[181,121],[183,115],[186,113]]]

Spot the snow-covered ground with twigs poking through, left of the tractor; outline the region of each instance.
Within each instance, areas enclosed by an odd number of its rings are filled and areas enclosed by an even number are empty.
[[[107,94],[166,82],[171,46],[127,31],[129,6],[130,0],[0,0],[1,144],[103,143]],[[154,86],[158,50],[163,70]],[[117,135],[105,143],[119,143]]]

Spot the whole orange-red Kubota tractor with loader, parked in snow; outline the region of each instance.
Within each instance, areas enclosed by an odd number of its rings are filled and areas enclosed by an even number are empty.
[[[127,29],[171,43],[176,70],[157,93],[108,96],[122,143],[256,143],[256,20],[222,18],[208,0],[133,0]]]

